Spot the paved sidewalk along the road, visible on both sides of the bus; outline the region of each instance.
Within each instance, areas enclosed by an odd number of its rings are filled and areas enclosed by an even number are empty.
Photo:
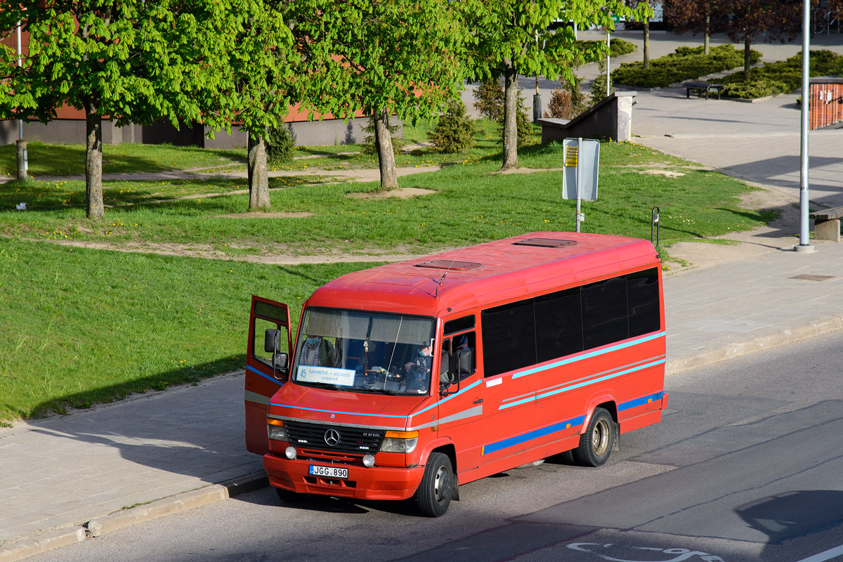
[[[792,278],[806,274],[830,278]],[[843,244],[768,249],[664,286],[673,373],[843,327]],[[0,429],[0,561],[266,485],[243,423],[236,372]]]

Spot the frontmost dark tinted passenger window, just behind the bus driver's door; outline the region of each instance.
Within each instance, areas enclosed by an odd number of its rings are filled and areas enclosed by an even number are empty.
[[[486,377],[534,365],[533,299],[489,308],[481,314]]]

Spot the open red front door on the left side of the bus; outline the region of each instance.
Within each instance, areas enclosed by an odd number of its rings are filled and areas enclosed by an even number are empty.
[[[277,331],[267,334],[267,330]],[[292,349],[290,309],[281,302],[252,295],[244,394],[246,448],[250,452],[269,452],[266,410],[272,394],[287,381]]]

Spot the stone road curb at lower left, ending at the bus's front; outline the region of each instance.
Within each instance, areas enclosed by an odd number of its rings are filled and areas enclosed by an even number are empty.
[[[88,538],[101,537],[106,533],[132,527],[137,523],[234,498],[247,492],[266,488],[268,485],[269,480],[266,478],[266,474],[248,474],[222,484],[209,484],[196,490],[169,495],[142,506],[134,506],[101,517],[94,517],[89,522],[77,527],[36,533],[30,537],[19,538],[0,546],[0,562],[17,562],[35,556],[35,554],[60,549],[73,543],[81,543]]]

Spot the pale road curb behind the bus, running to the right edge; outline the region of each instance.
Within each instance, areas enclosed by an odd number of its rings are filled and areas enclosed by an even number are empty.
[[[680,357],[679,359],[668,360],[664,367],[666,375],[673,375],[677,372],[695,369],[696,367],[705,367],[716,363],[717,361],[724,361],[732,359],[733,357],[744,356],[754,351],[761,351],[776,347],[777,345],[790,344],[799,340],[807,340],[818,335],[829,334],[839,329],[843,329],[843,315],[829,316],[819,320],[812,320],[801,326],[795,328],[782,329],[779,332],[769,335],[761,335],[752,340],[738,342],[729,345],[723,345],[717,349],[703,351],[688,357]]]

